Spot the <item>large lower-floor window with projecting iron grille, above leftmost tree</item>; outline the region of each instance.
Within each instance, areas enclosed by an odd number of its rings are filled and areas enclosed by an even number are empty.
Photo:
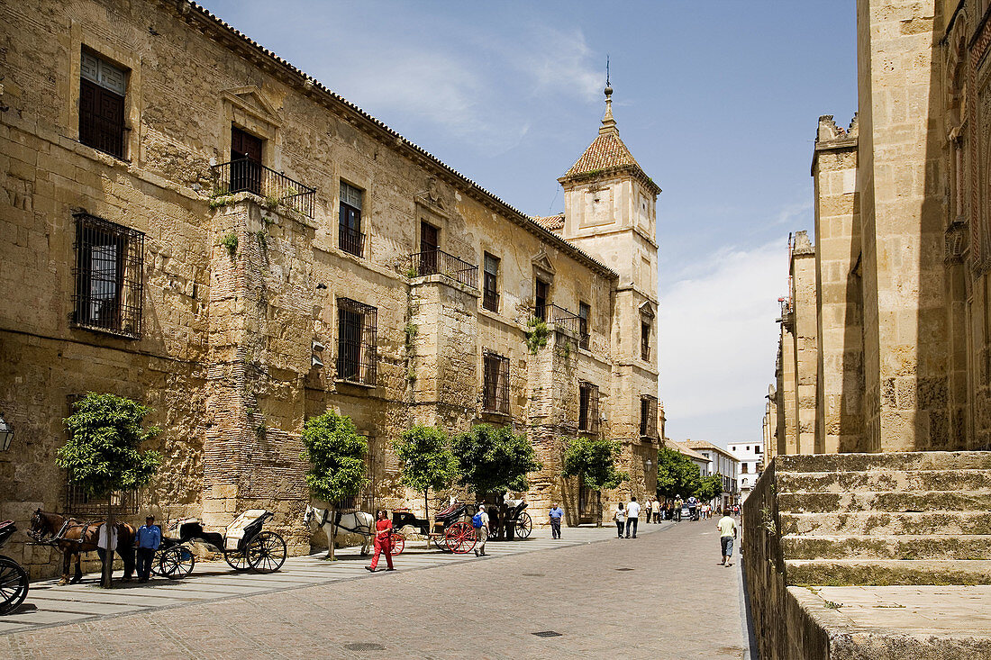
[[[141,232],[76,215],[72,323],[139,339],[144,255]]]

